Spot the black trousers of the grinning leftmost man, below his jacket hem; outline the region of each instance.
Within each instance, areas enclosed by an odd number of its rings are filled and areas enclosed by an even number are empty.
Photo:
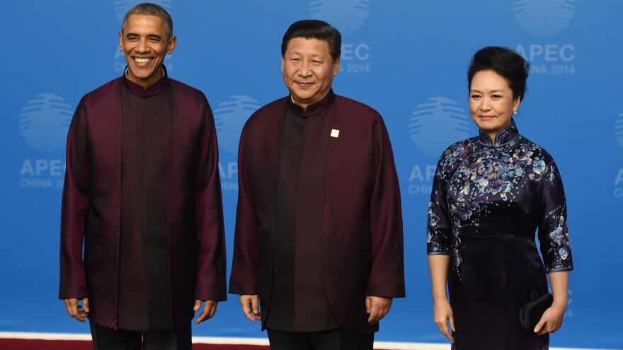
[[[176,331],[140,332],[124,329],[109,329],[93,322],[91,337],[95,350],[191,350],[193,349],[192,331],[188,326]],[[143,348],[144,344],[144,348]]]

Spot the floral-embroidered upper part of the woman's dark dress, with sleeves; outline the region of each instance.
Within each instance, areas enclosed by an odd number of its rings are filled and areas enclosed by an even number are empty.
[[[537,229],[546,271],[573,269],[560,175],[549,153],[521,136],[514,121],[495,144],[481,131],[447,148],[429,202],[429,254],[452,255],[460,276],[463,235],[534,240]]]

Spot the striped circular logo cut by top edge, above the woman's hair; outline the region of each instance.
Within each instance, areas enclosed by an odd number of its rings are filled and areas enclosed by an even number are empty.
[[[520,0],[513,3],[520,27],[532,35],[561,33],[576,11],[576,0]]]

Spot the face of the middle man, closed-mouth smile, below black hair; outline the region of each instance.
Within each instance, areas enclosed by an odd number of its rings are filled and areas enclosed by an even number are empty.
[[[281,59],[283,81],[294,103],[303,108],[326,96],[339,69],[340,59],[333,61],[326,40],[294,37]]]

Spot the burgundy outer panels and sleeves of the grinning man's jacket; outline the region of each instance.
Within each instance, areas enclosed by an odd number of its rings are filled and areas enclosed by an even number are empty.
[[[196,299],[224,301],[225,240],[214,119],[205,95],[169,79],[166,235],[171,329]],[[91,321],[117,328],[121,78],[88,93],[67,137],[59,298],[89,298]],[[84,261],[83,261],[84,243]]]

